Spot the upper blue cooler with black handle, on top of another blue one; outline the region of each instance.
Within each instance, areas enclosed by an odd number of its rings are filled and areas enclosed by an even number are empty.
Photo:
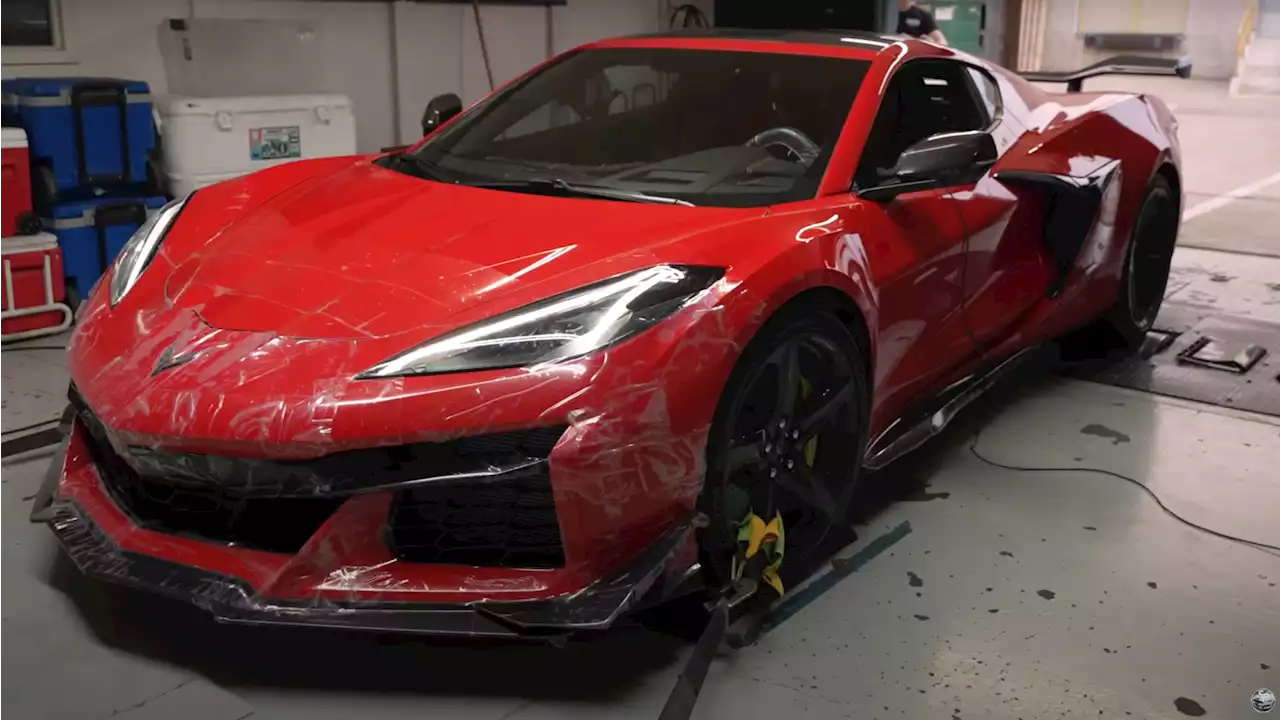
[[[0,122],[27,131],[42,210],[99,191],[142,195],[155,151],[147,83],[110,78],[0,82]]]

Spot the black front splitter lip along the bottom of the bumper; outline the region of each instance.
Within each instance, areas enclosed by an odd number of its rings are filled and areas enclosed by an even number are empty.
[[[86,575],[191,602],[220,623],[554,638],[607,629],[631,611],[698,587],[696,565],[689,557],[700,516],[690,512],[623,568],[579,592],[544,600],[436,603],[264,597],[241,578],[127,548],[113,539],[77,500],[60,495],[63,456],[74,439],[63,442],[35,498],[31,521],[47,524]]]

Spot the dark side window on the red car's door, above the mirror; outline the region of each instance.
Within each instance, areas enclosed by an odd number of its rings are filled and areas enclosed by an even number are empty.
[[[961,63],[931,59],[909,61],[893,74],[858,163],[858,187],[878,186],[908,147],[929,136],[989,124],[968,73]]]

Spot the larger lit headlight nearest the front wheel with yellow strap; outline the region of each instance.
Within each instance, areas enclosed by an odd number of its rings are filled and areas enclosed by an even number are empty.
[[[522,368],[579,357],[653,327],[723,275],[658,265],[453,331],[365,370],[361,379]]]

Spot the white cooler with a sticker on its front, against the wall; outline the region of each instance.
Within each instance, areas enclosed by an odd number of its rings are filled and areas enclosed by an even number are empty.
[[[343,95],[169,96],[156,115],[178,197],[291,160],[356,154],[356,118]]]

